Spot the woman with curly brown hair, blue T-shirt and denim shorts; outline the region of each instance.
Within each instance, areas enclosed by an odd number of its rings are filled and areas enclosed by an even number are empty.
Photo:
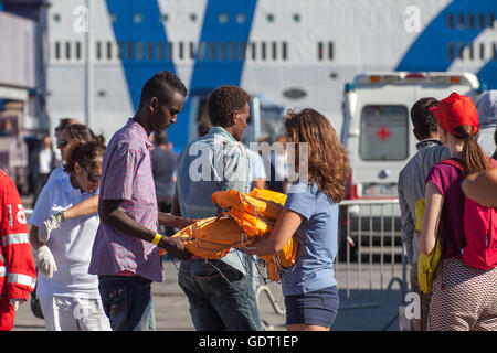
[[[287,141],[295,143],[299,181],[288,189],[272,232],[246,252],[258,256],[274,254],[295,234],[298,242],[295,267],[282,274],[287,330],[327,331],[339,303],[334,271],[338,249],[337,203],[346,193],[349,160],[334,127],[318,111],[290,113],[284,124]]]

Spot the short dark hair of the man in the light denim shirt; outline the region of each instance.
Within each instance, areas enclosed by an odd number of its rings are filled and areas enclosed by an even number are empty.
[[[209,118],[213,126],[229,127],[234,110],[242,110],[251,96],[240,87],[224,85],[209,97]]]

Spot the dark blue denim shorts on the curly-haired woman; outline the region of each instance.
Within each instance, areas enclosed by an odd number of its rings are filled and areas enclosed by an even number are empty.
[[[330,328],[337,317],[338,304],[337,286],[286,296],[286,324],[316,324]]]

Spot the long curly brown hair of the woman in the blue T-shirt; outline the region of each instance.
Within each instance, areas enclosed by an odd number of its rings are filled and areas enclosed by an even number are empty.
[[[350,175],[347,149],[338,140],[329,120],[319,111],[307,108],[298,113],[289,111],[284,125],[290,142],[307,143],[308,181],[335,203],[343,200],[346,183]],[[295,153],[298,163],[298,151]]]

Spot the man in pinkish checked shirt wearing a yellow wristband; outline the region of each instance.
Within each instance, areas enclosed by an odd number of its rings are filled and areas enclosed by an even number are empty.
[[[158,212],[150,164],[152,131],[176,122],[187,88],[170,72],[160,72],[141,89],[136,115],[110,139],[104,156],[98,202],[101,224],[89,274],[99,275],[99,292],[110,327],[155,330],[150,285],[165,278],[160,250],[188,259],[179,238],[158,234],[159,224],[182,228],[194,220]]]

